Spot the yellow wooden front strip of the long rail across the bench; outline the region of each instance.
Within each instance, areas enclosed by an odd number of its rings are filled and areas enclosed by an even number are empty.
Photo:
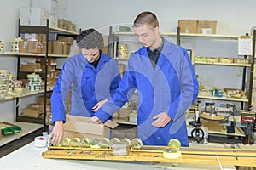
[[[44,158],[55,159],[76,159],[76,160],[102,160],[102,161],[156,161],[156,162],[177,162],[218,165],[216,156],[206,156],[197,154],[182,154],[178,159],[166,159],[162,152],[133,152],[127,156],[113,156],[109,150],[48,150],[42,155]],[[218,155],[219,153],[217,153]],[[251,153],[249,153],[251,154]],[[233,155],[233,156],[232,156]],[[227,156],[218,156],[222,165],[236,166],[256,166],[256,156],[234,156],[230,152]]]

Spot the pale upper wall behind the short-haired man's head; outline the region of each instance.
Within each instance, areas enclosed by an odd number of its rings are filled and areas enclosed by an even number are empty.
[[[164,32],[176,31],[177,20],[218,20],[218,34],[245,34],[256,26],[255,0],[67,0],[67,18],[81,28],[101,29],[132,23],[137,14],[150,10]]]

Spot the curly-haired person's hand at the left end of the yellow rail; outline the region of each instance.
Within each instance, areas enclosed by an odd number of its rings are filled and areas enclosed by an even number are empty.
[[[53,145],[57,145],[61,143],[61,139],[63,138],[64,130],[63,130],[63,122],[56,121],[55,127],[52,130],[52,133],[49,134],[49,141]]]

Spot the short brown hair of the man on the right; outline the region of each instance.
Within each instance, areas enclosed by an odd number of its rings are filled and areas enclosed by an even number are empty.
[[[159,23],[155,14],[149,11],[144,11],[141,14],[138,14],[136,19],[133,22],[133,26],[139,27],[143,25],[152,26],[153,28],[159,26]]]

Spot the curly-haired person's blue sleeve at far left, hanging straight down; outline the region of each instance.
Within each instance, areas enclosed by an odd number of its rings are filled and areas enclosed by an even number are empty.
[[[66,122],[66,107],[65,101],[73,82],[73,65],[71,62],[67,62],[63,65],[61,74],[55,82],[55,88],[51,96],[51,112],[52,122],[55,121]]]

